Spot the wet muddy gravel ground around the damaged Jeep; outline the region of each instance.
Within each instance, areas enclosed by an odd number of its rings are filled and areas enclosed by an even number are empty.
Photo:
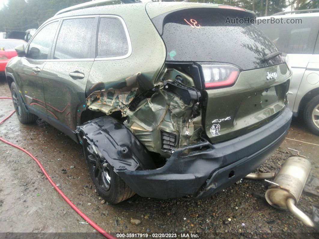
[[[10,96],[6,84],[0,85],[0,96]],[[1,100],[0,119],[12,109],[11,100]],[[0,136],[35,155],[72,202],[107,232],[194,233],[200,238],[311,238],[317,235],[315,229],[303,226],[289,212],[271,207],[262,197],[268,187],[263,181],[244,179],[199,201],[135,195],[117,205],[101,204],[89,178],[81,146],[63,133],[42,120],[23,125],[13,115],[0,126]],[[319,137],[309,133],[297,119],[293,120],[287,137],[319,144]],[[312,163],[312,173],[319,177],[319,146],[291,140],[285,140],[259,171],[278,171],[290,154],[287,147],[307,156]],[[55,237],[63,235],[55,233],[95,232],[89,224],[80,223],[84,220],[52,188],[31,158],[2,142],[0,155],[0,237],[14,237],[16,234],[12,233],[16,232],[45,232]],[[66,169],[66,173],[62,169]],[[318,197],[302,194],[299,208],[310,217],[314,204],[319,204]],[[141,224],[132,225],[131,218],[141,220]]]

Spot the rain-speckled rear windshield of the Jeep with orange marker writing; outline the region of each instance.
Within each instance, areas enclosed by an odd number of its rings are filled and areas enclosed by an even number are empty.
[[[226,24],[229,19],[253,17],[245,11],[187,8],[152,19],[167,49],[167,61],[232,63],[243,70],[281,63],[280,57],[263,63],[277,51],[252,24]],[[228,20],[229,20],[228,19]]]

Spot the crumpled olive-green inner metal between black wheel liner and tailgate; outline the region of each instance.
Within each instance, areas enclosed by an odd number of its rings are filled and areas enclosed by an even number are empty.
[[[176,148],[197,142],[202,128],[201,117],[189,122],[192,111],[193,105],[185,104],[179,96],[161,88],[151,98],[142,102],[135,111],[127,110],[127,126],[149,151],[169,157],[171,152],[162,150],[160,132],[175,134],[178,138]]]

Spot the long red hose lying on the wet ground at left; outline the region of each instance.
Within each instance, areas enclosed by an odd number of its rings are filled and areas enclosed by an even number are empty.
[[[0,99],[12,99],[11,97],[0,97]],[[4,121],[6,121],[8,118],[10,118],[10,116],[12,116],[14,114],[15,110],[13,110],[9,116],[5,117],[0,124],[2,124]],[[39,160],[37,160],[31,153],[29,153],[28,151],[26,151],[24,148],[21,148],[15,144],[10,143],[9,141],[3,139],[0,137],[0,140],[8,145],[11,145],[21,151],[23,151],[24,153],[26,153],[27,155],[29,155],[37,164],[38,166],[41,168],[43,174],[47,177],[48,181],[52,184],[52,186],[57,190],[57,192],[61,195],[61,197],[74,209],[74,211],[76,211],[85,221],[87,221],[88,223],[90,223],[90,225],[95,228],[98,232],[100,232],[102,235],[104,235],[106,238],[109,239],[116,239],[114,236],[108,234],[106,231],[104,231],[102,228],[100,228],[97,224],[95,224],[90,218],[88,218],[84,213],[81,212],[80,209],[77,208],[76,205],[74,205],[71,200],[64,195],[64,193],[62,192],[61,189],[59,189],[56,184],[52,181],[52,179],[50,178],[50,176],[48,175],[47,171],[42,167],[41,163]]]

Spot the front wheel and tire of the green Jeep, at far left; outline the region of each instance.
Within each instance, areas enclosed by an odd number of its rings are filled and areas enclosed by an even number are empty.
[[[11,91],[13,106],[14,106],[14,109],[16,110],[16,115],[19,121],[23,124],[34,123],[37,120],[38,116],[33,115],[32,113],[26,112],[26,108],[23,105],[24,103],[22,102],[22,98],[16,83],[14,82],[11,83],[10,91]]]

